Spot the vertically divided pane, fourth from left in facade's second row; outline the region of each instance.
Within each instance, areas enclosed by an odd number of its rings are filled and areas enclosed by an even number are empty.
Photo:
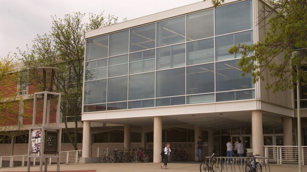
[[[185,65],[185,44],[157,49],[157,70]]]

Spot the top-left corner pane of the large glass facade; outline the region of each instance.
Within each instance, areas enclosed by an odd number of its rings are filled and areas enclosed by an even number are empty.
[[[86,40],[86,61],[108,57],[109,35]]]

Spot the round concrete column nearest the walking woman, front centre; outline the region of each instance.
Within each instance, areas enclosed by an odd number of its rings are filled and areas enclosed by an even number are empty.
[[[162,117],[153,117],[153,163],[161,163]]]

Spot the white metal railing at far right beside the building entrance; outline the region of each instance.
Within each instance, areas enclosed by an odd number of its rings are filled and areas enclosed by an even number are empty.
[[[307,146],[302,146],[302,165],[307,165]],[[297,146],[264,146],[264,156],[269,163],[298,164]]]

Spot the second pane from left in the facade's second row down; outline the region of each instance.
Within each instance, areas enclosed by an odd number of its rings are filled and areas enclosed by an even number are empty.
[[[109,77],[128,75],[128,54],[109,58]]]

